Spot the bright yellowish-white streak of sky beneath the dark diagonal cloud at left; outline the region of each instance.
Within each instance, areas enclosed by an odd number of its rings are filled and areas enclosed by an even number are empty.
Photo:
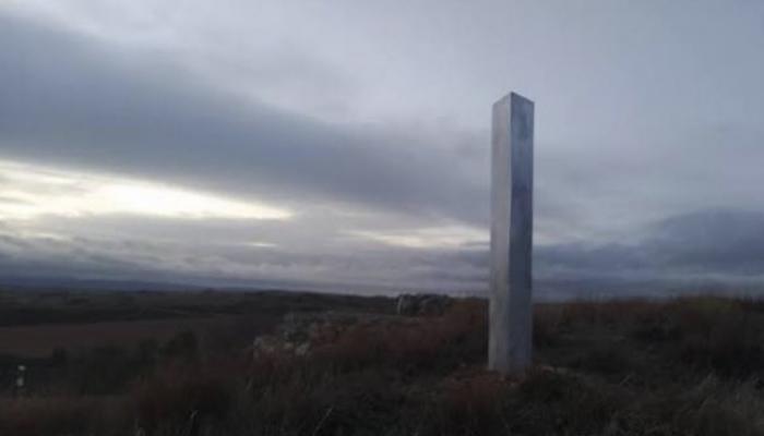
[[[142,215],[172,219],[275,219],[291,213],[156,182],[0,160],[0,219]]]

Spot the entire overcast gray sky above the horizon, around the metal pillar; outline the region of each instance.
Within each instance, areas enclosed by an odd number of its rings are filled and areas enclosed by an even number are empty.
[[[515,90],[541,283],[764,283],[763,53],[753,0],[7,0],[0,274],[484,290]]]

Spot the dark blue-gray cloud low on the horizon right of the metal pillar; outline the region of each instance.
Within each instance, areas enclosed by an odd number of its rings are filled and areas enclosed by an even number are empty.
[[[764,214],[684,214],[649,226],[638,242],[546,246],[537,259],[549,277],[726,278],[764,284]]]

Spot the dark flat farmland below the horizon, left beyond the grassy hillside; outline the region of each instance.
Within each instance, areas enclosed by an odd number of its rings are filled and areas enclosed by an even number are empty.
[[[392,310],[386,299],[299,292],[115,292],[0,290],[0,356],[47,358],[55,349],[134,349],[182,331],[211,338],[236,331],[240,343],[288,312]]]

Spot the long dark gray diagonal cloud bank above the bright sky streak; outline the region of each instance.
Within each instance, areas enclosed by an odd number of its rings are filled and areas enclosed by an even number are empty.
[[[469,161],[447,134],[330,125],[156,73],[153,62],[136,69],[82,36],[0,20],[5,156],[485,222],[486,182],[462,174]]]

